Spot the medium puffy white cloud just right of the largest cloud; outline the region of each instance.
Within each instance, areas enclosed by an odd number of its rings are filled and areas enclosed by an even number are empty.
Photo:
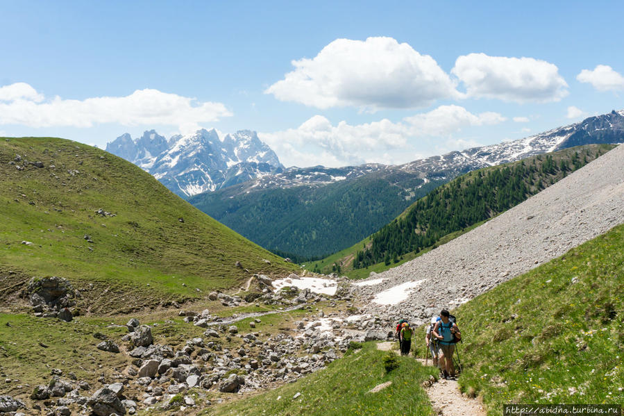
[[[557,66],[534,58],[470,53],[459,56],[451,72],[466,85],[469,97],[527,103],[559,101],[568,95]]]

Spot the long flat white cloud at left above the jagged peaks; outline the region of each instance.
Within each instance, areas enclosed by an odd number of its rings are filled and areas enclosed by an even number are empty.
[[[84,100],[45,99],[25,83],[0,88],[0,124],[31,127],[92,127],[119,123],[124,126],[173,125],[181,131],[232,115],[223,103],[199,102],[158,90],[136,90],[125,97],[94,97]]]

